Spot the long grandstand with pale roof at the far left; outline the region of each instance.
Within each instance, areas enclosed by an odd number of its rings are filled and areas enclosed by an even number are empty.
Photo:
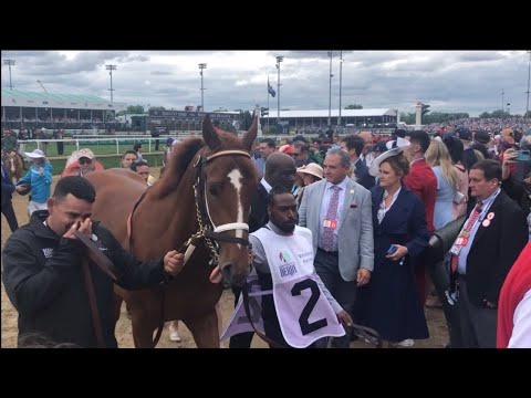
[[[95,95],[51,94],[2,88],[2,128],[101,128],[116,127],[116,113],[125,103]]]

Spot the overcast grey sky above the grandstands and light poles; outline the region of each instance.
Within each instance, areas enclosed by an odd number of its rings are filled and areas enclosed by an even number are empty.
[[[277,92],[278,55],[281,108],[327,109],[327,51],[2,51],[15,90],[97,95],[127,105],[184,109],[201,104],[199,63],[204,71],[205,109],[267,106],[268,75]],[[510,103],[511,114],[525,112],[529,54],[525,51],[343,51],[342,106],[398,108],[414,113],[421,101],[433,112],[478,116]],[[340,51],[332,59],[332,108],[340,104]],[[2,88],[9,70],[2,62]],[[277,108],[277,97],[270,108]]]

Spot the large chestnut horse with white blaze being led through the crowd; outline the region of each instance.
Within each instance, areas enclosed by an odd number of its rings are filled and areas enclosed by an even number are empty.
[[[137,259],[186,250],[183,272],[168,284],[143,291],[116,286],[133,315],[136,347],[154,347],[164,322],[173,320],[186,324],[198,347],[219,347],[215,305],[221,275],[241,286],[249,272],[247,222],[258,185],[249,153],[257,130],[254,119],[240,139],[216,129],[206,116],[202,139],[177,144],[166,171],[147,190],[142,177],[127,169],[86,176],[96,189],[93,218]]]

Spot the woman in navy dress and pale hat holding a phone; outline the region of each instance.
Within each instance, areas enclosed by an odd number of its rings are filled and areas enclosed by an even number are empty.
[[[412,258],[428,244],[426,210],[420,199],[402,184],[409,163],[394,148],[374,160],[371,174],[379,177],[373,196],[374,271],[361,289],[360,322],[376,329],[383,341],[412,346],[428,338]],[[396,251],[388,253],[394,245]]]

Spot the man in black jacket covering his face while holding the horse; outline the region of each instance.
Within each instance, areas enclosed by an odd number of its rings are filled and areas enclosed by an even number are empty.
[[[184,255],[175,250],[164,260],[135,260],[107,229],[91,221],[95,197],[83,177],[62,178],[48,199],[48,210],[35,211],[30,223],[7,241],[2,276],[19,312],[19,337],[39,333],[59,343],[97,346],[82,270],[85,247],[74,235],[77,230],[115,265],[116,283],[124,289],[147,289],[181,271]],[[104,345],[116,348],[113,281],[92,261],[88,268]]]

